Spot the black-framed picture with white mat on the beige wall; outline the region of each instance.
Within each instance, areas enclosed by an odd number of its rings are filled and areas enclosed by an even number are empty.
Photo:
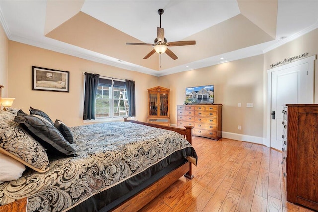
[[[70,72],[32,66],[32,90],[69,92]]]

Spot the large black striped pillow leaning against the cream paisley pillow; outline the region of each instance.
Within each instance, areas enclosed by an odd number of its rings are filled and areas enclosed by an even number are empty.
[[[48,122],[32,115],[16,116],[14,121],[27,130],[44,148],[55,155],[76,156],[58,129]]]

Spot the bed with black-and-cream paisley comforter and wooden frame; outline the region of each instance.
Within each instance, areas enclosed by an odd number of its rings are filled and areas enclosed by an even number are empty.
[[[21,123],[12,122],[21,115],[1,111],[1,116],[32,136]],[[35,115],[25,115],[29,116],[33,119]],[[197,155],[191,146],[192,127],[181,129],[125,118],[124,122],[69,130],[73,143],[66,149],[71,153],[48,153],[49,163],[38,162],[38,171],[27,168],[20,178],[0,184],[0,205],[28,197],[29,212],[137,211],[182,175],[193,178],[189,161],[196,164]],[[2,153],[3,143],[0,141]],[[41,160],[37,157],[31,159]]]

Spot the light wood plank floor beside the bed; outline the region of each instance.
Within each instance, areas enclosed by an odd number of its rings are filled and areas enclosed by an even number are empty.
[[[286,201],[282,153],[248,142],[193,139],[198,166],[140,212],[312,212]]]

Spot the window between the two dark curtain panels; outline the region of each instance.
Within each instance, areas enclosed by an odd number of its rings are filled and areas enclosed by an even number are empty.
[[[127,90],[123,81],[100,77],[95,101],[97,119],[128,115]]]

